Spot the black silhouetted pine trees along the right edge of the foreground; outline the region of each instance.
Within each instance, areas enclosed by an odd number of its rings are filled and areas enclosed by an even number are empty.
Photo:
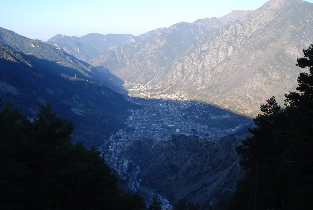
[[[312,208],[313,45],[303,52],[296,65],[309,71],[300,73],[296,92],[285,94],[285,110],[275,96],[267,100],[249,130],[253,136],[237,147],[246,174],[230,209]]]

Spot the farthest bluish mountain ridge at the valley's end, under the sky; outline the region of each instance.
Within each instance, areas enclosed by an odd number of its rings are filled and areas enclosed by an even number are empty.
[[[82,37],[55,35],[50,38],[47,43],[54,45],[58,49],[75,56],[76,58],[88,61],[97,57],[98,55],[114,49],[122,47],[133,42],[141,41],[149,36],[152,36],[165,28],[157,28],[139,36],[131,34],[106,34],[89,33]]]

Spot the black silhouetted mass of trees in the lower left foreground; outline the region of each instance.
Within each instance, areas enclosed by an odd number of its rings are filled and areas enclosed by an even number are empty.
[[[0,209],[143,209],[119,195],[99,151],[72,145],[72,122],[38,110],[33,122],[10,102],[0,112]]]

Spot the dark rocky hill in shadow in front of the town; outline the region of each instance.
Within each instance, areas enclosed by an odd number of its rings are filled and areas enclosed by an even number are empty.
[[[214,204],[243,176],[235,148],[244,137],[215,143],[174,135],[168,142],[136,141],[127,154],[141,167],[141,186],[156,189],[173,203],[187,197],[194,203]]]

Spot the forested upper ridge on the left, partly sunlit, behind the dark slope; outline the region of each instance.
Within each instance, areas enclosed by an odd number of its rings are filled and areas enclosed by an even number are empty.
[[[52,74],[67,74],[70,77],[87,79],[117,89],[121,79],[102,67],[94,68],[90,64],[69,55],[51,44],[30,39],[13,31],[0,27],[0,43],[9,46],[28,59],[36,62],[42,69],[49,69]]]

